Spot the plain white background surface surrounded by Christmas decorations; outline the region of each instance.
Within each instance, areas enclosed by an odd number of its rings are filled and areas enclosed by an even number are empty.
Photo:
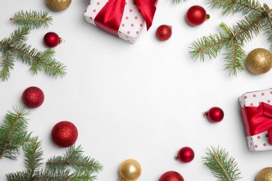
[[[262,0],[272,7],[272,1]],[[53,17],[48,29],[31,31],[28,43],[45,50],[43,36],[54,31],[66,40],[58,45],[56,59],[67,65],[63,79],[43,72],[33,76],[28,65],[16,61],[8,81],[0,82],[0,118],[13,106],[21,106],[25,88],[38,86],[45,102],[31,111],[29,132],[43,140],[45,162],[63,155],[51,141],[52,127],[61,120],[73,122],[79,131],[76,145],[84,155],[104,165],[98,180],[119,179],[119,166],[126,159],[136,159],[142,166],[139,181],[155,181],[166,171],[177,171],[187,181],[216,180],[203,166],[207,148],[220,146],[236,159],[242,180],[255,180],[257,173],[272,166],[272,152],[250,152],[245,139],[238,97],[248,91],[271,88],[272,72],[253,75],[245,70],[237,77],[224,71],[222,55],[204,63],[192,61],[190,43],[209,33],[219,33],[220,22],[229,26],[242,16],[222,17],[204,0],[188,0],[174,5],[171,0],[158,2],[153,26],[144,29],[135,44],[116,38],[88,24],[84,10],[89,0],[72,1],[62,12],[54,12],[45,1],[0,1],[0,39],[17,27],[10,22],[19,10],[48,10]],[[189,26],[184,17],[193,5],[203,6],[211,15],[201,26]],[[173,26],[172,38],[156,39],[161,24]],[[248,54],[255,48],[269,49],[260,35],[245,44]],[[221,107],[225,118],[210,123],[202,116],[211,107]],[[183,164],[173,159],[184,146],[195,151],[195,159]],[[24,154],[17,161],[0,160],[0,180],[5,174],[24,170]]]

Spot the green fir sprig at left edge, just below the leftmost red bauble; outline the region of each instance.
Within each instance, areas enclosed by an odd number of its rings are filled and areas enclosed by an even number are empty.
[[[17,159],[20,146],[31,141],[27,132],[27,116],[29,112],[22,107],[13,107],[14,112],[8,111],[0,125],[0,159]]]

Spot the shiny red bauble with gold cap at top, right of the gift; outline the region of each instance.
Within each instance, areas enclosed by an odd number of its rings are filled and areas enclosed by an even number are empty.
[[[188,24],[197,26],[205,22],[206,16],[206,10],[202,8],[202,6],[196,5],[188,9],[186,13],[186,20]]]

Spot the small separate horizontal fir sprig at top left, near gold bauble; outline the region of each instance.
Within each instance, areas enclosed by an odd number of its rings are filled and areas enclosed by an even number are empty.
[[[13,17],[10,17],[10,21],[18,26],[27,26],[31,29],[38,29],[41,26],[48,28],[52,24],[52,17],[48,17],[48,11],[19,11],[15,13]]]

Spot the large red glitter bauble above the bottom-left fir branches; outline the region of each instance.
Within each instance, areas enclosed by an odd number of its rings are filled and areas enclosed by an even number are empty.
[[[63,120],[52,128],[51,137],[56,146],[69,147],[77,141],[77,127],[69,121]]]

